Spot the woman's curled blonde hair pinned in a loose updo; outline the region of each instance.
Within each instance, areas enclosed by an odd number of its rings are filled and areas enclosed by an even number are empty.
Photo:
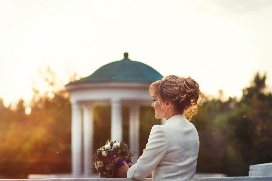
[[[189,121],[197,113],[198,98],[201,95],[199,84],[194,79],[177,75],[169,75],[153,82],[149,93],[158,96],[159,105],[164,110],[162,101],[169,100],[174,103],[175,109],[182,111]]]

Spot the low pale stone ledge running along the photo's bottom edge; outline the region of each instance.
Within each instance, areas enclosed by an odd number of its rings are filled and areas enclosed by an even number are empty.
[[[0,179],[0,181],[137,181],[131,178],[123,179],[101,179],[101,178],[67,178],[67,179]],[[142,181],[151,181],[152,179],[144,179]],[[194,181],[271,181],[272,176],[244,176],[244,177],[210,177],[195,178]]]

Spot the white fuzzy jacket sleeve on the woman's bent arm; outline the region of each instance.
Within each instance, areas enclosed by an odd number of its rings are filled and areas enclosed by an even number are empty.
[[[159,162],[165,157],[167,152],[167,140],[163,128],[154,125],[150,131],[149,139],[143,154],[137,163],[127,171],[127,178],[142,180],[156,169]]]

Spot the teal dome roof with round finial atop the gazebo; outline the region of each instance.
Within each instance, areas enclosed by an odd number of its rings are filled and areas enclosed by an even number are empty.
[[[92,75],[69,84],[84,84],[98,82],[142,82],[150,83],[162,79],[163,76],[154,68],[128,59],[128,53],[124,53],[124,59],[111,62],[98,68]]]

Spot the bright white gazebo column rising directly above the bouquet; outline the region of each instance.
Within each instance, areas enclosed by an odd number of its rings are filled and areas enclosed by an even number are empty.
[[[111,99],[111,140],[121,141],[123,137],[122,104],[120,99]]]

